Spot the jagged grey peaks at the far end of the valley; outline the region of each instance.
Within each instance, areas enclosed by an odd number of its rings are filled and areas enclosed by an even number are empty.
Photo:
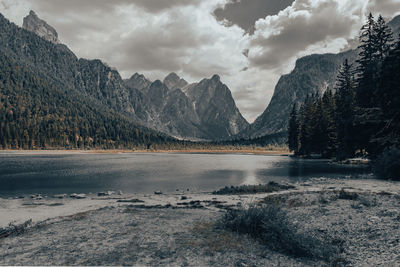
[[[179,87],[185,84],[181,90]],[[147,125],[174,137],[222,140],[248,126],[218,75],[187,84],[173,73],[141,92],[146,97]]]

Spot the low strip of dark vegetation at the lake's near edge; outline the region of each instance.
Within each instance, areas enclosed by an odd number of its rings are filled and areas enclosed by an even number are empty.
[[[276,182],[269,182],[268,184],[259,185],[241,185],[224,187],[214,191],[214,195],[232,195],[232,194],[257,194],[257,193],[271,193],[287,189],[294,189],[293,185],[281,185]]]

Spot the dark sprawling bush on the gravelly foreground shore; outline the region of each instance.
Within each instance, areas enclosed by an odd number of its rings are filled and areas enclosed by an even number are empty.
[[[217,225],[239,234],[248,234],[268,248],[290,256],[328,260],[339,251],[326,241],[298,233],[286,213],[275,206],[229,210]]]

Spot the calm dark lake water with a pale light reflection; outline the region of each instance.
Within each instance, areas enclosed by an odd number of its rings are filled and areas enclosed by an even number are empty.
[[[322,160],[239,154],[0,153],[0,196],[212,191],[225,185],[368,174]]]

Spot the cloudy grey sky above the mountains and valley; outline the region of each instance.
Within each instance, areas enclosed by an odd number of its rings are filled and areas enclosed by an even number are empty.
[[[19,26],[30,10],[78,57],[123,78],[219,74],[252,122],[297,58],[348,49],[367,13],[390,20],[400,0],[0,0]]]

